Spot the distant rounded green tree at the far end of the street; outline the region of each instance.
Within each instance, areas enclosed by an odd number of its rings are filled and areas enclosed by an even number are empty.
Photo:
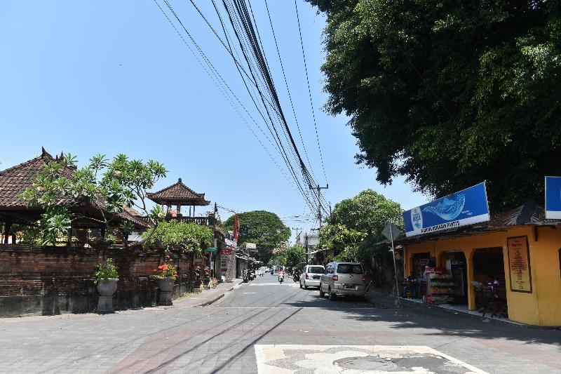
[[[283,224],[278,215],[268,211],[239,213],[240,237],[238,243],[256,243],[259,261],[269,262],[273,248],[290,238],[290,228]],[[227,230],[234,229],[234,216],[222,224]]]

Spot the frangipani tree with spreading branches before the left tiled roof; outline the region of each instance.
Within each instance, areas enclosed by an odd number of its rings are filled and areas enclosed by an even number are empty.
[[[92,204],[100,213],[97,219],[107,229],[115,215],[127,206],[140,208],[155,222],[162,210],[158,206],[148,211],[146,193],[165,173],[161,163],[130,160],[124,154],[112,161],[97,154],[87,166],[76,168],[76,156],[67,154],[61,160],[46,163],[36,175],[34,185],[25,189],[21,197],[28,205],[44,209],[40,222],[43,243],[55,243],[70,228],[72,220],[81,218],[68,209],[68,201]],[[130,222],[121,225],[125,234],[132,229]]]

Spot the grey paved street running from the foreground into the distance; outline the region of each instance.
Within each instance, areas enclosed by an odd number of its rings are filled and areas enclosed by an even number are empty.
[[[208,307],[176,302],[0,319],[4,373],[559,373],[561,331],[320,298],[265,274]]]

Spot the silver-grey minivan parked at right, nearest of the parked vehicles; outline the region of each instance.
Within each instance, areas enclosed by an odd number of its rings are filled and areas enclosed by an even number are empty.
[[[366,276],[357,262],[330,262],[320,278],[320,296],[326,293],[330,300],[337,296],[366,295]]]

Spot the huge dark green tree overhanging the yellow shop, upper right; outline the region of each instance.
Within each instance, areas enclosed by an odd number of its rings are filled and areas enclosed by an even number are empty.
[[[327,15],[322,67],[358,163],[444,196],[488,180],[502,210],[561,175],[559,0],[307,0]]]

